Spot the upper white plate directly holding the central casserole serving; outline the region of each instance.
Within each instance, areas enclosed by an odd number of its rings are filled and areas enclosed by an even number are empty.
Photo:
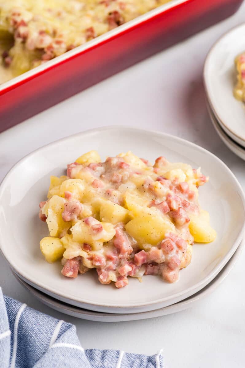
[[[67,162],[97,149],[106,155],[132,149],[136,155],[202,166],[210,182],[200,188],[200,202],[210,212],[218,236],[214,243],[195,244],[191,264],[180,280],[168,284],[160,277],[143,282],[130,279],[116,289],[101,285],[96,272],[76,279],[61,275],[61,265],[45,262],[39,240],[47,228],[38,218],[38,203],[46,198],[50,174],[60,175]],[[0,248],[12,269],[27,283],[68,304],[99,312],[132,313],[174,304],[206,286],[241,243],[244,232],[244,194],[230,169],[212,153],[183,139],[160,132],[106,127],[82,132],[40,148],[20,160],[0,187]]]

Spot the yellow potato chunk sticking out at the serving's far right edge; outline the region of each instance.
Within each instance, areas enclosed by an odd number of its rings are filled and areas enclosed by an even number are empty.
[[[192,217],[189,229],[197,243],[210,243],[216,238],[216,231],[209,224],[207,211],[202,211],[198,217]]]

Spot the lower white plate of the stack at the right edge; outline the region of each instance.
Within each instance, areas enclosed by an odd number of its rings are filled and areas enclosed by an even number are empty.
[[[213,123],[214,129],[218,133],[219,137],[222,139],[224,144],[233,152],[235,155],[239,156],[241,159],[245,160],[245,148],[243,146],[239,145],[237,142],[233,141],[221,128],[216,116],[214,116],[213,111],[211,110],[211,107],[209,103],[207,102],[207,109],[209,111],[209,116],[211,118],[211,121]]]

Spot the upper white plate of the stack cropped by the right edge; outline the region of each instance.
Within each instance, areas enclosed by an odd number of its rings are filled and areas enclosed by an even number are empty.
[[[233,96],[235,57],[245,51],[245,24],[225,33],[211,48],[204,65],[204,85],[211,108],[230,137],[245,146],[245,104]]]

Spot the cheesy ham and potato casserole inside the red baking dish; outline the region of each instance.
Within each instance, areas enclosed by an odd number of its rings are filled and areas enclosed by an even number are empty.
[[[168,1],[0,0],[0,83]]]

